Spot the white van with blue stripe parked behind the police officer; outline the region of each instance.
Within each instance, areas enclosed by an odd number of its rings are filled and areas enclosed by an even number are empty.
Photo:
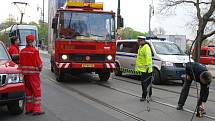
[[[158,38],[146,41],[151,45],[153,52],[155,73],[153,83],[161,84],[167,80],[181,80],[180,77],[185,73],[185,63],[189,61],[189,56],[173,42]],[[117,40],[116,76],[122,73],[137,74],[135,62],[138,48],[137,40]]]

